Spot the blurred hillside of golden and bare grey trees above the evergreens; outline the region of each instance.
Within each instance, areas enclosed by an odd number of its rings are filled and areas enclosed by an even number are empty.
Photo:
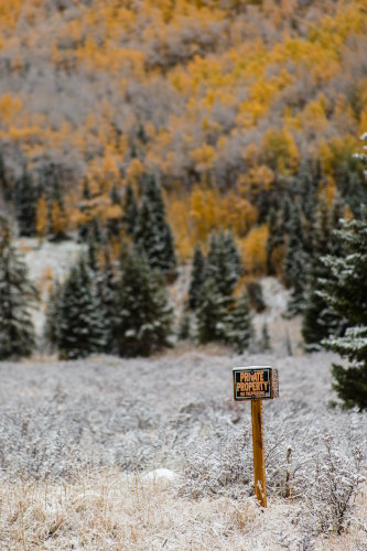
[[[366,60],[365,0],[1,2],[2,201],[23,235],[119,229],[154,174],[181,258],[231,229],[247,271],[282,271],[285,196],[366,199]]]

